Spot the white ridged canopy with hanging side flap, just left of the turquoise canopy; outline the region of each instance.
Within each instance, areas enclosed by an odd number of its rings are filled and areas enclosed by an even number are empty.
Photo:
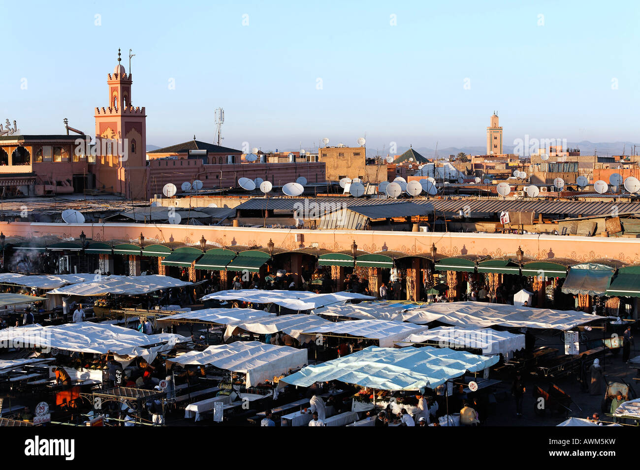
[[[202,352],[186,352],[167,361],[182,365],[212,364],[219,369],[245,373],[246,386],[253,387],[307,365],[307,350],[260,341],[236,341],[228,345],[209,346]]]

